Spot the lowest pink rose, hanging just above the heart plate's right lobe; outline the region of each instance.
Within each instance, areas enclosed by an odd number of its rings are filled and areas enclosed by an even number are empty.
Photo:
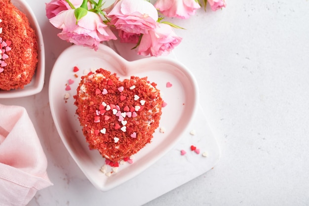
[[[170,25],[158,24],[154,30],[143,35],[137,53],[144,56],[168,54],[181,40]]]

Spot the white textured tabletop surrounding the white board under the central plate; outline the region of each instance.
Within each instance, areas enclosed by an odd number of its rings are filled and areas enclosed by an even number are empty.
[[[27,1],[46,35],[48,83],[59,55],[50,51],[68,44],[56,40],[59,31],[43,18],[47,0]],[[146,206],[308,206],[309,1],[227,0],[222,10],[200,9],[188,20],[170,21],[186,28],[176,31],[183,42],[174,52],[197,78],[222,157],[209,172]],[[41,113],[50,115],[47,91],[45,84],[39,96],[31,97],[45,108],[28,108],[35,124],[42,121],[36,119]],[[0,103],[22,105],[23,100]],[[56,131],[51,125],[38,132]],[[58,136],[44,138],[42,144],[53,146],[46,151],[48,160],[57,163],[49,167],[50,177],[76,200],[67,200],[60,190],[49,197],[49,188],[29,206],[72,206],[87,198],[95,206],[105,205],[92,200],[93,190],[84,190],[89,183],[68,154],[57,152],[65,151]]]

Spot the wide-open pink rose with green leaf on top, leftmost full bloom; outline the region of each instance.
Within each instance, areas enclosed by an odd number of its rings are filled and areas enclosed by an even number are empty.
[[[101,41],[116,40],[115,35],[101,17],[91,11],[76,22],[74,9],[61,11],[57,16],[49,19],[56,28],[62,29],[58,37],[77,45],[89,46],[97,50]]]

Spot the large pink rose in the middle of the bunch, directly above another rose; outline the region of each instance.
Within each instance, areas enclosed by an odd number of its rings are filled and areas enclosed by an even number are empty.
[[[156,27],[158,13],[146,0],[117,0],[105,10],[116,29],[132,34],[147,34]]]

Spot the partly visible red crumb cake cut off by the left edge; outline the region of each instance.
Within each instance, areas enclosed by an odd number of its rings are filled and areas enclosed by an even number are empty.
[[[7,65],[0,67],[0,89],[24,88],[24,85],[31,82],[37,68],[37,37],[26,15],[10,0],[0,0],[0,8],[0,38],[11,42],[11,50],[5,52],[8,55],[4,60]]]

